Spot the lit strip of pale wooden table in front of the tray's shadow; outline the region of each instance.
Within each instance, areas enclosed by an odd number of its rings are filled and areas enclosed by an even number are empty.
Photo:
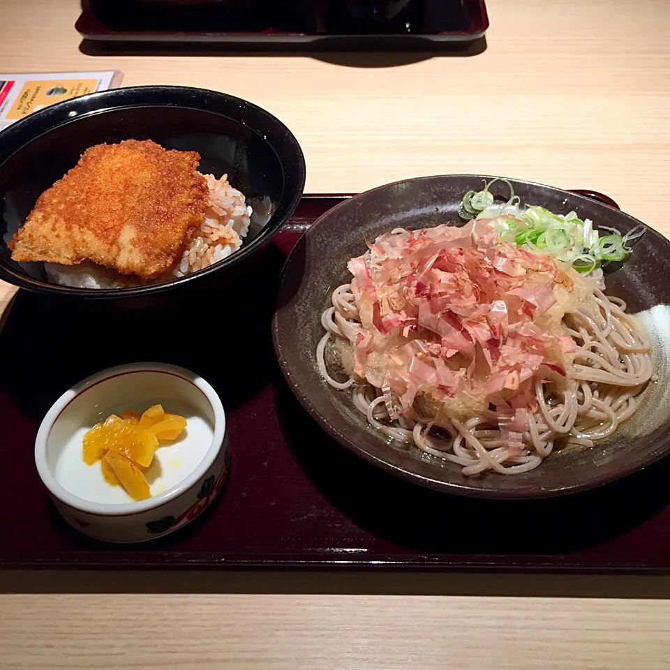
[[[657,601],[13,595],[0,620],[5,670],[670,667]]]

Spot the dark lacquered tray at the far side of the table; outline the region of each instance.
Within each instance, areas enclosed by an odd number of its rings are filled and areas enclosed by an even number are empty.
[[[484,0],[411,0],[388,22],[356,22],[344,0],[228,0],[211,6],[160,6],[146,0],[83,0],[75,28],[104,43],[195,45],[308,44],[421,49],[471,43],[489,27]]]

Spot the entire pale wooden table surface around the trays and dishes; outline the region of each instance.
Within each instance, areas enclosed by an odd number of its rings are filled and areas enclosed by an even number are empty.
[[[80,46],[77,12],[3,0],[0,73],[114,68],[247,98],[297,135],[308,192],[504,174],[602,191],[670,234],[667,0],[489,0],[486,49],[459,57],[105,54]],[[670,668],[670,581],[0,573],[3,670],[196,664]]]

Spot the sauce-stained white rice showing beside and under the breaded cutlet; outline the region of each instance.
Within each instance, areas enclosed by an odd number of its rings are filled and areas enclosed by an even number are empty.
[[[221,179],[216,179],[213,174],[205,174],[204,178],[209,187],[205,219],[189,232],[181,260],[162,276],[153,280],[130,277],[92,262],[80,265],[45,263],[48,280],[75,288],[130,288],[184,277],[237,251],[249,231],[252,209],[246,204],[244,195],[228,184],[227,174]]]

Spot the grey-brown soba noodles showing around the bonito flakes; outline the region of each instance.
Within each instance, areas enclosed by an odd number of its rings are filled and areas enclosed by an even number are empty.
[[[395,232],[395,231],[394,231]],[[338,286],[332,306],[321,315],[326,333],[318,343],[318,369],[335,389],[351,389],[352,403],[371,426],[389,438],[415,445],[422,452],[458,463],[464,475],[493,470],[515,475],[537,468],[558,440],[593,447],[609,437],[635,411],[637,396],[653,377],[650,343],[640,325],[625,312],[623,300],[595,288],[593,300],[566,313],[563,324],[576,345],[572,366],[565,370],[562,388],[550,380],[535,380],[537,409],[528,412],[521,435],[522,448],[510,453],[500,429],[505,416],[498,408],[467,420],[449,417],[435,424],[415,403],[412,418],[389,415],[388,393],[357,375],[336,380],[327,368],[326,347],[331,338],[339,349],[351,350],[361,319],[350,284]]]

